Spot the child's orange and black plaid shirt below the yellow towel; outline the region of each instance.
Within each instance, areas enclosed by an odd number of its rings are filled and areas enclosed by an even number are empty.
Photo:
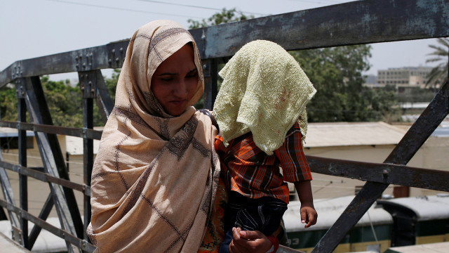
[[[246,197],[269,196],[288,203],[289,191],[285,181],[311,180],[297,122],[286,134],[281,148],[274,150],[274,155],[260,150],[251,133],[234,138],[227,147],[222,136],[216,136],[215,150],[220,155],[227,187]],[[282,167],[282,174],[279,167]]]

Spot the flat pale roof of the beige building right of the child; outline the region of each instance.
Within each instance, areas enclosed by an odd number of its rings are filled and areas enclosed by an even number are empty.
[[[309,123],[304,147],[396,145],[406,131],[384,122]]]

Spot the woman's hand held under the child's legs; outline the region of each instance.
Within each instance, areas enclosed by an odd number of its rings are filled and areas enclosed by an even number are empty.
[[[265,253],[272,247],[272,242],[260,231],[242,231],[232,228],[230,253]]]

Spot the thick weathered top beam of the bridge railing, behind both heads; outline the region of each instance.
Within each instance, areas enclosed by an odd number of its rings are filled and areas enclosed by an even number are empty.
[[[351,15],[347,15],[351,13]],[[232,56],[255,39],[287,50],[448,37],[449,0],[353,1],[190,30],[201,58]],[[244,36],[236,36],[244,34]],[[18,60],[0,72],[0,88],[19,77],[121,67],[128,39]]]

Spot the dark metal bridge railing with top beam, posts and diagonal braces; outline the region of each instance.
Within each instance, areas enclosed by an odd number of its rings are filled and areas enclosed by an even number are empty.
[[[203,59],[205,108],[212,108],[217,93],[217,65],[225,62],[249,41],[267,39],[291,51],[448,37],[448,17],[449,0],[368,0],[191,30]],[[24,247],[30,249],[43,228],[66,240],[69,252],[93,252],[95,249],[86,236],[86,226],[91,217],[89,200],[93,139],[100,139],[101,136],[101,131],[93,130],[93,100],[97,101],[104,119],[107,119],[113,102],[107,93],[101,70],[121,67],[127,46],[128,40],[123,40],[18,60],[0,72],[0,88],[13,83],[17,91],[18,122],[0,122],[0,126],[18,129],[20,164],[0,162],[1,186],[5,196],[4,200],[0,200],[0,205],[8,211],[15,240]],[[79,74],[83,98],[81,129],[53,126],[43,96],[39,76],[65,72]],[[26,123],[26,112],[29,113],[31,123]],[[406,166],[448,112],[449,88],[448,82],[445,82],[384,162],[374,164],[307,156],[312,171],[316,173],[366,181],[313,252],[332,252],[389,184],[449,191],[448,171]],[[26,130],[35,133],[43,161],[42,171],[27,168]],[[56,134],[83,138],[83,184],[69,181]],[[6,169],[20,175],[20,207],[14,204]],[[51,189],[39,216],[27,212],[28,176],[48,182]],[[76,205],[74,190],[84,195],[83,220]],[[58,212],[62,228],[51,226],[45,221],[53,207]],[[31,232],[28,231],[26,221],[35,224]]]

